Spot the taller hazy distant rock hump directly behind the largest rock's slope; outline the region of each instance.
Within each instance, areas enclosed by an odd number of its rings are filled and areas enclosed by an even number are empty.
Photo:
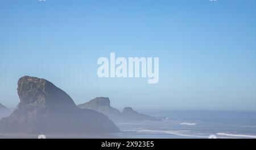
[[[81,109],[92,109],[98,111],[102,114],[105,114],[112,120],[121,119],[120,111],[110,106],[108,97],[96,97],[89,102],[77,106]]]

